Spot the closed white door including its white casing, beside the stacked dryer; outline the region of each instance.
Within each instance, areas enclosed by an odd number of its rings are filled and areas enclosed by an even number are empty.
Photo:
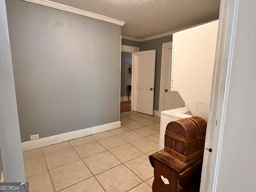
[[[184,101],[180,94],[171,91],[172,79],[172,42],[162,45],[162,63],[160,77],[159,111],[180,108],[184,106]]]

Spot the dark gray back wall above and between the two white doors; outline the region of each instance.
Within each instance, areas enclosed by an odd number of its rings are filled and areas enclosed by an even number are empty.
[[[140,51],[156,50],[156,72],[155,72],[155,91],[154,91],[154,110],[159,109],[160,95],[160,76],[162,60],[162,44],[172,41],[172,35],[140,42]]]

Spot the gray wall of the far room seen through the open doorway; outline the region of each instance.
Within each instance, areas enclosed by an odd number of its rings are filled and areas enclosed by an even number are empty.
[[[129,67],[132,66],[132,53],[122,52],[121,54],[121,97],[128,96],[128,85],[132,84],[132,75]]]

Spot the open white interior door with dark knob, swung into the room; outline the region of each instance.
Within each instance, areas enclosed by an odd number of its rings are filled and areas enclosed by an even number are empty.
[[[155,65],[156,50],[134,52],[134,111],[153,115]]]

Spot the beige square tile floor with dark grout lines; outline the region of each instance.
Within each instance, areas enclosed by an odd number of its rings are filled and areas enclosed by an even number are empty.
[[[152,192],[160,118],[120,117],[121,128],[24,152],[30,192]]]

